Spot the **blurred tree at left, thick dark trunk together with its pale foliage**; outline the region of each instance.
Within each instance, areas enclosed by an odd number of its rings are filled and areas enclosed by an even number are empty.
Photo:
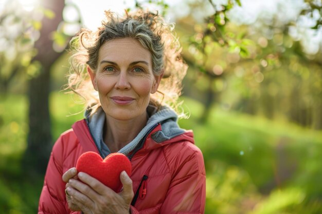
[[[65,6],[78,13],[74,21],[63,20]],[[68,32],[68,27],[76,30],[80,23],[79,9],[71,3],[65,5],[64,0],[41,1],[32,11],[24,10],[19,2],[8,1],[0,14],[0,89],[6,94],[19,76],[23,77],[19,81],[22,85],[28,82],[29,133],[23,164],[31,173],[44,173],[52,146],[50,69],[76,33]]]

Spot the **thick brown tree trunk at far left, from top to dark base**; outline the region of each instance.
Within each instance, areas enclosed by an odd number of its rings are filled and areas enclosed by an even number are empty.
[[[35,42],[38,54],[33,59],[40,62],[41,70],[37,77],[29,81],[29,133],[23,164],[31,174],[45,172],[52,146],[49,114],[50,67],[61,53],[52,49],[53,41],[50,36],[63,21],[65,2],[45,0],[42,1],[42,6],[55,13],[55,17],[49,19],[44,16],[42,20],[40,38]]]

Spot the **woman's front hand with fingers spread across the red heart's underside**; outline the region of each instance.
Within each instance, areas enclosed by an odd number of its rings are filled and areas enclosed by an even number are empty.
[[[130,213],[130,204],[134,193],[132,180],[126,171],[122,171],[120,174],[120,180],[123,184],[123,189],[120,193],[116,193],[111,188],[84,172],[79,172],[78,178],[80,181],[70,179],[68,182],[70,186],[66,190],[73,199],[73,203],[84,214]]]

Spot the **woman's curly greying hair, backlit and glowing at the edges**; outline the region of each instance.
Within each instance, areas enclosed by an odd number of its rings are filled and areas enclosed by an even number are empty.
[[[135,38],[142,47],[151,53],[152,70],[163,78],[157,93],[151,94],[151,103],[159,107],[167,104],[178,112],[182,80],[186,75],[187,65],[181,57],[181,47],[175,34],[174,24],[167,24],[158,13],[138,10],[123,17],[111,11],[105,11],[106,20],[96,30],[82,28],[80,33],[70,41],[73,53],[69,59],[69,89],[80,95],[85,107],[91,107],[92,113],[100,107],[98,93],[94,90],[86,66],[96,70],[100,47],[115,38]]]

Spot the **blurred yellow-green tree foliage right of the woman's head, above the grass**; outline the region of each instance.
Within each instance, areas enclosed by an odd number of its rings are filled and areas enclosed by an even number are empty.
[[[259,15],[247,24],[234,17],[242,14],[235,10],[242,10],[239,2],[209,2],[191,5],[189,14],[213,7],[214,13],[203,22],[191,15],[176,22],[190,66],[186,85],[195,86],[185,87],[184,93],[204,103],[201,120],[206,121],[212,105],[217,105],[321,129],[322,28],[316,25],[320,26],[322,5],[303,3],[290,18],[281,15],[280,4],[274,14]],[[312,27],[303,26],[303,20]],[[309,36],[315,44],[308,43]]]

